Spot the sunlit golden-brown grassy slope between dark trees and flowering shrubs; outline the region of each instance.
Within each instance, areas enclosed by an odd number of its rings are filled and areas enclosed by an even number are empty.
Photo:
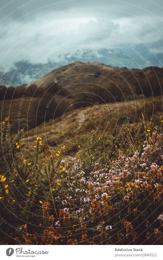
[[[24,141],[30,153],[35,150],[33,147],[35,136],[40,136],[44,142],[44,145],[40,148],[44,156],[48,155],[49,152],[54,155],[61,145],[66,146],[65,156],[76,156],[78,145],[80,144],[84,147],[89,135],[105,133],[110,138],[114,133],[116,136],[118,129],[126,122],[125,119],[127,117],[130,118],[129,122],[131,124],[139,122],[138,125],[143,127],[141,114],[143,112],[146,120],[150,120],[153,115],[153,120],[158,124],[161,116],[161,107],[161,96],[154,98],[154,100],[146,98],[145,100],[128,100],[127,102],[81,107],[66,112],[59,118],[49,120],[49,122],[43,122],[35,129],[25,132]],[[84,120],[79,129],[79,120],[82,115]],[[26,151],[26,156],[28,155]]]

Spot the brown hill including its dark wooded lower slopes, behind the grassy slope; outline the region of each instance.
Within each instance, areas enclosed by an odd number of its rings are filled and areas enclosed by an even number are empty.
[[[163,70],[118,68],[97,62],[73,62],[52,70],[19,88],[0,86],[2,118],[10,116],[12,131],[17,131],[21,107],[21,128],[35,128],[77,108],[126,102],[161,96]]]

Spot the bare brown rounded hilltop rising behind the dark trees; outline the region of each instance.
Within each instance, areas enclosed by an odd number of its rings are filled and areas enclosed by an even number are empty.
[[[126,83],[127,81],[131,86],[130,89]],[[111,67],[98,62],[73,62],[52,70],[45,76],[33,81],[32,84],[46,87],[54,82],[62,86],[72,85],[69,88],[70,92],[85,91],[90,89],[90,85],[95,85],[106,89],[114,86],[117,90],[122,88],[121,90],[128,94],[131,94],[133,90],[138,95],[150,96],[151,88],[154,95],[160,94],[160,85],[163,83],[163,70],[158,67],[128,70],[126,67]],[[142,89],[144,89],[143,92]]]

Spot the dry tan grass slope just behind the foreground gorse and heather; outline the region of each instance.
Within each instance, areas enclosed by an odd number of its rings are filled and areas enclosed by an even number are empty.
[[[154,102],[161,102],[161,97],[154,98]],[[153,102],[152,98],[146,98],[145,104]],[[123,108],[122,108],[123,107]],[[66,145],[66,149],[69,152],[75,152],[78,144],[87,140],[88,134],[91,134],[91,130],[97,130],[102,132],[109,132],[109,136],[117,125],[121,125],[124,120],[124,108],[132,113],[133,122],[135,118],[141,117],[141,111],[144,111],[144,100],[118,102],[110,104],[97,104],[96,106],[90,106],[85,108],[79,108],[65,113],[63,116],[50,120],[45,124],[42,123],[36,129],[31,129],[25,133],[25,142],[31,152],[34,151],[33,145],[36,136],[43,138],[43,146],[41,147],[43,155],[46,153],[49,155],[49,149],[52,154],[54,150],[57,150],[57,142],[59,145]],[[83,122],[80,130],[79,117],[81,114],[85,115],[85,121]],[[149,112],[152,116],[152,111]],[[56,141],[54,141],[54,134]],[[67,139],[67,140],[66,140]],[[51,148],[53,146],[53,148]]]

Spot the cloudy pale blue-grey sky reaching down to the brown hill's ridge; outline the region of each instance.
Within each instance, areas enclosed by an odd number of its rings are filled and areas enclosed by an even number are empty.
[[[162,0],[5,0],[0,17],[2,80],[18,64],[51,69],[75,60],[128,68],[163,63]]]

